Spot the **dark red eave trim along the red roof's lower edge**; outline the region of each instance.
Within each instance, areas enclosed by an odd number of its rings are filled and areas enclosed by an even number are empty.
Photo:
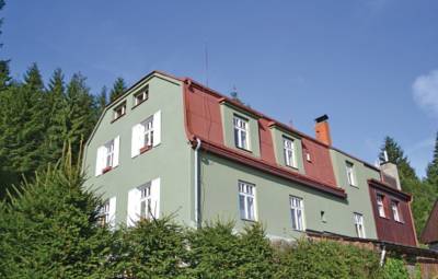
[[[347,194],[342,188],[322,184],[322,183],[314,181],[308,176],[304,176],[302,174],[299,174],[299,173],[296,173],[292,171],[280,168],[277,165],[273,165],[273,164],[262,161],[260,159],[252,158],[252,156],[250,156],[243,152],[240,152],[238,150],[233,150],[233,149],[227,148],[224,146],[215,144],[212,142],[206,141],[203,138],[199,138],[199,139],[203,141],[200,148],[205,151],[209,151],[217,155],[220,155],[220,156],[223,156],[227,159],[231,159],[233,161],[237,161],[237,162],[245,164],[245,165],[250,165],[252,167],[258,168],[266,173],[277,175],[283,178],[292,181],[292,182],[303,184],[303,185],[314,188],[316,190],[324,191],[324,193],[337,196],[339,198],[347,197]],[[192,144],[195,146],[196,141],[193,140]]]

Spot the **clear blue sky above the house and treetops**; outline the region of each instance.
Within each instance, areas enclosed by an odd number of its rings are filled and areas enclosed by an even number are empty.
[[[7,0],[0,40],[21,79],[80,71],[93,92],[151,70],[191,77],[373,163],[384,136],[419,175],[438,130],[438,2]],[[205,49],[208,49],[208,74]]]

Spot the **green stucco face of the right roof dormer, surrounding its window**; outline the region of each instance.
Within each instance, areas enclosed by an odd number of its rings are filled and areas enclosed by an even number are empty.
[[[301,138],[298,137],[297,135],[284,131],[280,128],[274,127],[270,129],[270,132],[273,135],[273,142],[274,142],[274,149],[275,149],[275,159],[277,163],[284,167],[287,167],[289,170],[295,170],[298,171],[301,174],[304,174],[304,165],[302,163],[302,144],[301,144]],[[284,143],[283,143],[283,138],[289,138],[293,140],[293,148],[295,148],[295,156],[296,156],[296,162],[297,162],[297,167],[291,167],[286,165],[285,161],[285,151],[284,151]]]

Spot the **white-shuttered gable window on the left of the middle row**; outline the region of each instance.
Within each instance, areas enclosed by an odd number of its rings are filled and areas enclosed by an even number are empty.
[[[110,140],[97,148],[95,175],[101,175],[118,165],[120,137]]]

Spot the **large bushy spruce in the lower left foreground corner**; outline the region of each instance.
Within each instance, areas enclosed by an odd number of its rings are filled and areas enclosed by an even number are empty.
[[[1,278],[112,278],[112,233],[97,225],[102,202],[82,188],[67,155],[0,202]]]

